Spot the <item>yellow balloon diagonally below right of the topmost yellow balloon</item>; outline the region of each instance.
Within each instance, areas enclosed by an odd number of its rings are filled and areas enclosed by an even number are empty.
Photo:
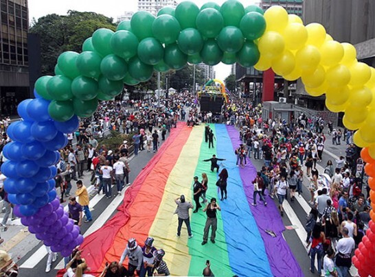
[[[291,14],[289,14],[291,15]],[[285,48],[297,50],[304,47],[307,41],[307,29],[299,23],[289,23],[284,29]]]

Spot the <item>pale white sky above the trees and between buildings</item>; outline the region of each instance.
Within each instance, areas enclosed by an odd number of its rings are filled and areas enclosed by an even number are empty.
[[[177,3],[183,0],[177,0]],[[209,0],[190,0],[196,3],[198,7],[201,7],[203,3],[210,2]],[[245,7],[254,3],[259,3],[259,0],[239,0]],[[221,5],[224,0],[216,0],[215,3]],[[33,19],[38,20],[41,16],[47,14],[67,14],[68,10],[76,10],[78,12],[96,12],[98,14],[104,14],[105,16],[112,17],[117,20],[117,16],[124,14],[126,11],[137,11],[137,0],[29,0],[29,19],[30,22]],[[214,67],[216,71],[216,78],[224,80],[227,75],[230,74],[231,66],[220,63]]]

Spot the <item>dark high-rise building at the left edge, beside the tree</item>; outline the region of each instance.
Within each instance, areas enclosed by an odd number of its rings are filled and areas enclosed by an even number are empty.
[[[0,3],[0,115],[15,115],[17,104],[30,97],[27,0]]]

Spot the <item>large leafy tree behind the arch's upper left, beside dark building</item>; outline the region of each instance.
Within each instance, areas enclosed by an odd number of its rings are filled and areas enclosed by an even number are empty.
[[[82,51],[82,43],[96,29],[115,31],[116,25],[102,14],[69,10],[67,16],[48,14],[32,22],[30,33],[41,36],[41,62],[43,75],[54,75],[58,56],[64,51]]]

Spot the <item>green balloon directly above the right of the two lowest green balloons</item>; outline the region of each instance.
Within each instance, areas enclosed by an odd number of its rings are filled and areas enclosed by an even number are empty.
[[[71,93],[84,101],[94,99],[98,95],[98,82],[89,77],[78,76],[71,83]]]

